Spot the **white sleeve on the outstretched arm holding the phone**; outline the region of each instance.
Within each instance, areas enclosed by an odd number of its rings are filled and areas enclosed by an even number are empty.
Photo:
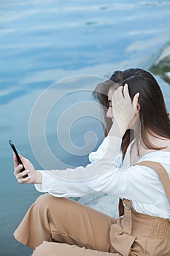
[[[155,205],[161,205],[163,187],[155,170],[149,169],[149,167],[136,165],[121,171],[112,164],[100,176],[80,182],[62,181],[45,172],[43,178],[51,181],[50,185],[48,182],[43,182],[42,187],[40,189],[36,187],[36,189],[40,192],[49,192],[56,197],[81,197],[104,192],[133,201],[150,204],[154,202]]]

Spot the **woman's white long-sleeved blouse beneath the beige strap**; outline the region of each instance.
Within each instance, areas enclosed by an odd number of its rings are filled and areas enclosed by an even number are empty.
[[[35,184],[39,192],[55,197],[81,197],[104,192],[132,200],[136,211],[156,217],[170,218],[169,201],[155,170],[145,166],[130,166],[128,146],[125,159],[120,152],[122,140],[104,138],[96,152],[89,155],[90,164],[66,170],[39,170],[42,184]],[[170,152],[153,151],[139,159],[160,162],[170,176]]]

